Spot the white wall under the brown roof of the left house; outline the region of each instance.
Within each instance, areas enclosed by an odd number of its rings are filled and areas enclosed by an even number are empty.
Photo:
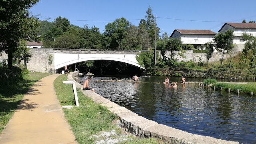
[[[215,35],[210,34],[182,34],[181,41],[183,44],[205,44],[214,42],[212,39]]]

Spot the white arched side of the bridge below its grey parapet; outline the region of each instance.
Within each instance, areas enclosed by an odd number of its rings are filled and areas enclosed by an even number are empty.
[[[54,53],[54,69],[58,70],[66,65],[71,65],[89,60],[112,60],[123,62],[145,70],[136,60],[137,54],[67,54]]]

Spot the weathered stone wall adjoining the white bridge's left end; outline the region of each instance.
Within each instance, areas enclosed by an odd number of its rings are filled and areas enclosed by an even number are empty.
[[[53,49],[33,48],[30,49],[30,53],[32,54],[32,58],[27,62],[27,68],[29,71],[34,70],[35,72],[55,73]],[[52,55],[52,64],[48,63],[48,57],[50,54]]]

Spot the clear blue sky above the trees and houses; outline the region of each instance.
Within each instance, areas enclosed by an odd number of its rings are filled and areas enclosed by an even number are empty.
[[[40,20],[51,18],[52,22],[61,16],[71,24],[97,26],[103,32],[109,22],[121,17],[138,26],[149,5],[157,16],[157,27],[169,36],[174,29],[218,32],[225,22],[256,21],[256,0],[41,0],[29,11],[40,14]]]

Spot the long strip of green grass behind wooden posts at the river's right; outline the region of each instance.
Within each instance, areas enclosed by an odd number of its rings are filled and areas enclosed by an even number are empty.
[[[230,84],[230,83],[217,83],[216,88],[218,90],[223,87],[223,90],[228,90],[230,88],[231,92],[237,92],[239,90],[239,93],[243,94],[256,94],[256,83],[251,83],[251,84]]]

